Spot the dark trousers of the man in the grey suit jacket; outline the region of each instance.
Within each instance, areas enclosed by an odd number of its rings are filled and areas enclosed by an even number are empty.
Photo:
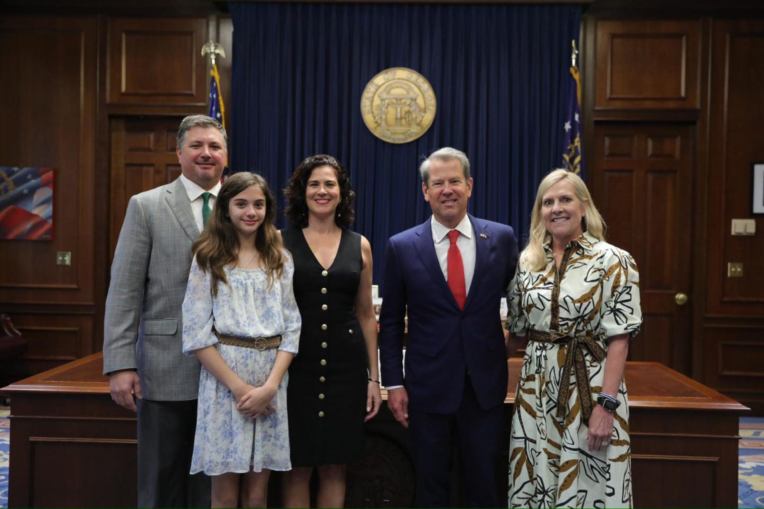
[[[210,480],[189,475],[196,400],[138,400],[138,507],[209,507]]]

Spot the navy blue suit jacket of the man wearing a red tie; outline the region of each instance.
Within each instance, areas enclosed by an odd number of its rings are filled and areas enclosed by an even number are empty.
[[[387,243],[379,336],[382,381],[386,386],[404,385],[417,411],[454,413],[464,391],[465,371],[484,410],[507,397],[500,299],[515,272],[517,240],[506,224],[469,218],[475,234],[475,269],[463,311],[440,269],[430,219]]]

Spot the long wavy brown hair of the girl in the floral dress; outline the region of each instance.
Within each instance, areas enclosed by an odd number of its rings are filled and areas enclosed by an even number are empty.
[[[202,272],[212,274],[212,296],[218,296],[218,283],[228,284],[225,277],[225,266],[233,263],[237,257],[238,234],[231,217],[228,217],[228,204],[240,192],[253,185],[261,188],[265,196],[265,217],[257,228],[254,236],[254,247],[263,260],[267,274],[268,288],[273,285],[275,278],[283,274],[286,257],[283,254],[283,243],[278,230],[274,227],[276,217],[276,200],[270,193],[268,183],[256,173],[239,172],[225,179],[220,188],[215,208],[207,220],[207,226],[191,246],[191,253],[196,255],[196,263]]]

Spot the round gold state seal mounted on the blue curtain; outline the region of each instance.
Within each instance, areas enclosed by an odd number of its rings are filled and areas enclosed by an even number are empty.
[[[413,69],[392,67],[374,76],[361,94],[361,116],[380,140],[407,143],[435,120],[435,92]]]

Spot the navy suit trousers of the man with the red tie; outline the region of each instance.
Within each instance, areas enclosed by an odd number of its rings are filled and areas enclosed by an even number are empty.
[[[503,405],[483,410],[467,377],[455,414],[427,414],[409,408],[411,453],[416,473],[414,507],[448,507],[453,447],[458,447],[461,478],[470,507],[506,507],[499,500]]]

